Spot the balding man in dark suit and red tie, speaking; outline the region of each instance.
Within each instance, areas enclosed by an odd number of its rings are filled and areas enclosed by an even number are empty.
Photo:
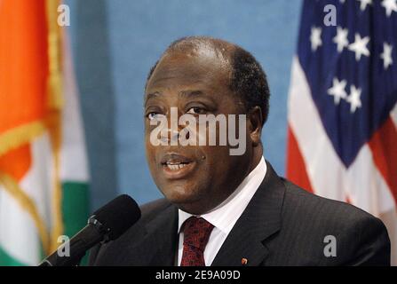
[[[169,119],[172,107],[194,120],[244,114],[238,128],[245,151],[231,154],[230,143],[155,144],[155,122]],[[390,242],[379,219],[307,193],[265,161],[268,108],[266,75],[249,52],[209,37],[172,43],[145,88],[147,162],[165,199],[143,206],[139,223],[118,240],[93,248],[90,263],[389,265]],[[163,142],[181,135],[169,125],[160,133]]]

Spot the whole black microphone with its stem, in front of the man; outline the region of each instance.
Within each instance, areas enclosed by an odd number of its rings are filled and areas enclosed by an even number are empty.
[[[113,241],[120,237],[140,218],[140,209],[130,196],[123,194],[95,211],[88,219],[88,225],[76,233],[70,241],[62,244],[51,256],[47,256],[38,266],[77,265],[85,252],[99,241]],[[68,248],[69,256],[59,256],[61,248]]]

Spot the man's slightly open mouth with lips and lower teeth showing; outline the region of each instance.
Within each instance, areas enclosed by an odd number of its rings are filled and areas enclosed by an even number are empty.
[[[168,179],[187,177],[195,169],[195,162],[180,154],[166,154],[162,159],[163,174]]]

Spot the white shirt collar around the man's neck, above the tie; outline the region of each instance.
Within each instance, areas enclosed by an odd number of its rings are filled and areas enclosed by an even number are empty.
[[[192,216],[202,217],[210,224],[217,227],[223,233],[230,233],[242,212],[247,208],[254,193],[266,176],[266,162],[262,156],[260,162],[250,174],[242,180],[242,183],[230,194],[225,201],[220,203],[215,209],[202,214],[201,216],[192,215],[179,209],[179,226],[178,232],[183,223]]]

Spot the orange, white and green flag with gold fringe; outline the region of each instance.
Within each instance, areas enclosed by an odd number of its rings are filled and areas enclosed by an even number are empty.
[[[88,216],[88,169],[57,0],[0,0],[0,265],[36,265]]]

